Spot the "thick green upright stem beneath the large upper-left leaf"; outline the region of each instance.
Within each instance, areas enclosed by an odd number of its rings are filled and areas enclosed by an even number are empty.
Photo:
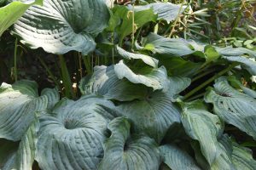
[[[74,99],[75,95],[73,93],[72,82],[67,70],[66,61],[63,55],[59,55],[59,59],[61,64],[61,76],[62,76],[64,88],[65,88],[65,95],[69,99]]]

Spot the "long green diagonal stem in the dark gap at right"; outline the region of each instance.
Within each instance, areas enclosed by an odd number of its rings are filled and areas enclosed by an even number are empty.
[[[189,92],[189,94],[186,94],[183,99],[188,99],[190,96],[192,96],[193,94],[195,94],[196,92],[198,92],[199,90],[201,90],[201,88],[206,87],[209,83],[213,82],[215,79],[217,79],[218,77],[221,77],[222,75],[224,75],[226,72],[230,71],[231,69],[233,69],[236,65],[238,64],[232,64],[230,65],[228,68],[224,69],[223,71],[218,72],[215,76],[209,78],[207,80],[207,82],[203,82],[200,86],[198,86],[197,88],[194,88],[193,90],[191,90]]]

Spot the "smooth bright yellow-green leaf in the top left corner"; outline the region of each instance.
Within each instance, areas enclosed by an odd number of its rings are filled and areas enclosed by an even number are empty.
[[[43,5],[43,0],[15,1],[0,8],[0,37],[3,31],[15,24],[16,20],[19,20],[22,14],[26,12],[26,9],[30,8],[32,5]]]

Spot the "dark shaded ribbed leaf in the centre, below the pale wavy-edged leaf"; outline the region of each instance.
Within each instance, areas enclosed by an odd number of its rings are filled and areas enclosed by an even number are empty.
[[[137,133],[146,133],[160,142],[172,124],[180,122],[180,113],[171,96],[161,91],[148,92],[141,100],[119,105],[119,112],[131,119]]]

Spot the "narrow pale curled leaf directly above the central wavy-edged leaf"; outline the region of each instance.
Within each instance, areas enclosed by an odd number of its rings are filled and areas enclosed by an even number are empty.
[[[125,51],[123,48],[117,47],[117,52],[121,55],[124,59],[142,59],[143,62],[147,65],[153,66],[157,68],[158,60],[144,54],[133,54]]]

